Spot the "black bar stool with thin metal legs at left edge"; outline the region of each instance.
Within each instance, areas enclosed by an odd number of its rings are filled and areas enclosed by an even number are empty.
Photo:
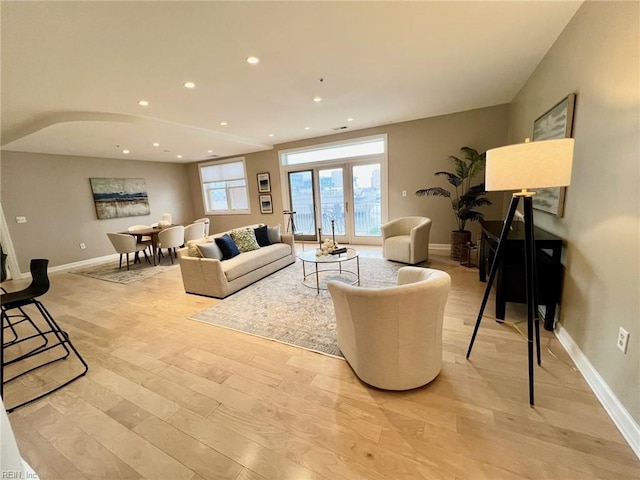
[[[49,260],[47,259],[31,260],[31,284],[23,290],[4,293],[0,296],[2,305],[0,323],[2,323],[1,336],[3,346],[3,355],[2,358],[0,358],[0,397],[3,396],[4,385],[45,365],[65,360],[69,358],[72,353],[75,355],[75,358],[79,360],[81,368],[69,368],[68,370],[72,378],[68,379],[70,375],[67,375],[67,380],[62,384],[58,384],[54,388],[49,387],[44,393],[30,400],[24,400],[22,398],[21,403],[7,409],[9,412],[59,390],[83,376],[89,369],[84,359],[71,343],[69,335],[60,328],[39,300],[39,297],[42,297],[49,291],[49,277],[47,275],[48,264]],[[34,319],[32,319],[31,316],[27,314],[26,309],[24,309],[24,307],[29,305],[35,306],[42,316],[43,322],[37,322],[39,326],[36,325]],[[17,318],[20,320],[16,320]],[[16,329],[15,327],[23,321],[27,321],[30,324],[30,328]],[[4,332],[9,329],[12,331],[14,337],[9,341],[5,341]],[[24,344],[24,346],[22,346],[22,344]],[[25,362],[27,359],[29,359],[29,361]]]

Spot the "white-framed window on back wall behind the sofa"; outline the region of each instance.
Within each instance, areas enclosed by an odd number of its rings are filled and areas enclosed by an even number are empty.
[[[199,167],[207,215],[251,213],[244,157],[201,163]]]

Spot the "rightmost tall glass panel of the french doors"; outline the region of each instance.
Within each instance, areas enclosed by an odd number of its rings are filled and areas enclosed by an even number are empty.
[[[379,237],[382,224],[380,164],[352,166],[355,237]]]

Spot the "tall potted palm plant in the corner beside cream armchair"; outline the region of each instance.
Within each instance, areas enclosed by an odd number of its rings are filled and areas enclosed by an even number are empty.
[[[484,170],[485,153],[478,153],[471,147],[462,147],[463,158],[453,155],[449,157],[453,165],[453,172],[436,172],[434,175],[443,176],[453,191],[442,187],[424,188],[416,191],[419,197],[446,197],[451,202],[451,208],[456,218],[458,229],[451,232],[451,258],[462,258],[463,247],[471,242],[471,232],[466,230],[467,222],[484,219],[484,215],[475,210],[483,205],[491,205],[491,200],[484,196],[484,182],[471,185],[471,182]]]

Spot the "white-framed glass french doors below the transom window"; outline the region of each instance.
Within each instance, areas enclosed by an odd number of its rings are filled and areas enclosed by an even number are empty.
[[[382,224],[380,163],[350,162],[288,172],[296,239],[379,244]]]

